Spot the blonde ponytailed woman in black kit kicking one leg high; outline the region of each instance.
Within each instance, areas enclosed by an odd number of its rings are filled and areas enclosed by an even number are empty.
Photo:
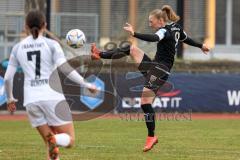
[[[174,63],[178,42],[181,41],[198,47],[204,53],[209,51],[205,44],[197,43],[187,36],[182,27],[176,23],[179,19],[173,9],[165,5],[162,9],[153,10],[149,15],[149,26],[156,30],[155,34],[137,33],[130,24],[126,23],[124,30],[129,32],[131,36],[148,42],[158,42],[157,52],[153,60],[144,54],[141,49],[133,45],[110,51],[99,51],[95,44],[91,48],[92,59],[116,59],[130,55],[136,64],[139,64],[138,69],[146,78],[141,96],[141,108],[145,114],[145,122],[148,128],[148,137],[143,148],[144,152],[150,150],[158,142],[157,136],[154,135],[155,113],[152,102],[158,90],[168,79]]]

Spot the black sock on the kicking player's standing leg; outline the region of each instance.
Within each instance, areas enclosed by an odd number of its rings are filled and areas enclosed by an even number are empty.
[[[151,104],[142,104],[141,108],[144,112],[145,122],[148,128],[148,136],[154,136],[155,130],[155,112]]]

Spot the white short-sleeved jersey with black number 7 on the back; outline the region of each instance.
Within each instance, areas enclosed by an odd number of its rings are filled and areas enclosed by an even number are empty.
[[[13,47],[9,65],[20,66],[24,72],[24,106],[38,101],[65,99],[62,93],[49,85],[58,61],[66,61],[61,46],[43,36],[37,39],[28,36]],[[54,77],[54,84],[59,84],[58,91],[62,91],[58,76]]]

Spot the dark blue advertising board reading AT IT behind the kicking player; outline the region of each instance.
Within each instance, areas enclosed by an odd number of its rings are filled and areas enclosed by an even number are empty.
[[[117,91],[120,95],[118,108],[122,111],[140,110],[141,92],[130,90],[144,83],[144,78],[128,80],[119,75]],[[126,81],[129,81],[126,86]],[[171,91],[160,94],[153,102],[157,111],[236,112],[240,111],[240,74],[189,74],[173,73],[168,83]],[[125,88],[121,86],[126,86]],[[141,90],[141,87],[139,87]]]

